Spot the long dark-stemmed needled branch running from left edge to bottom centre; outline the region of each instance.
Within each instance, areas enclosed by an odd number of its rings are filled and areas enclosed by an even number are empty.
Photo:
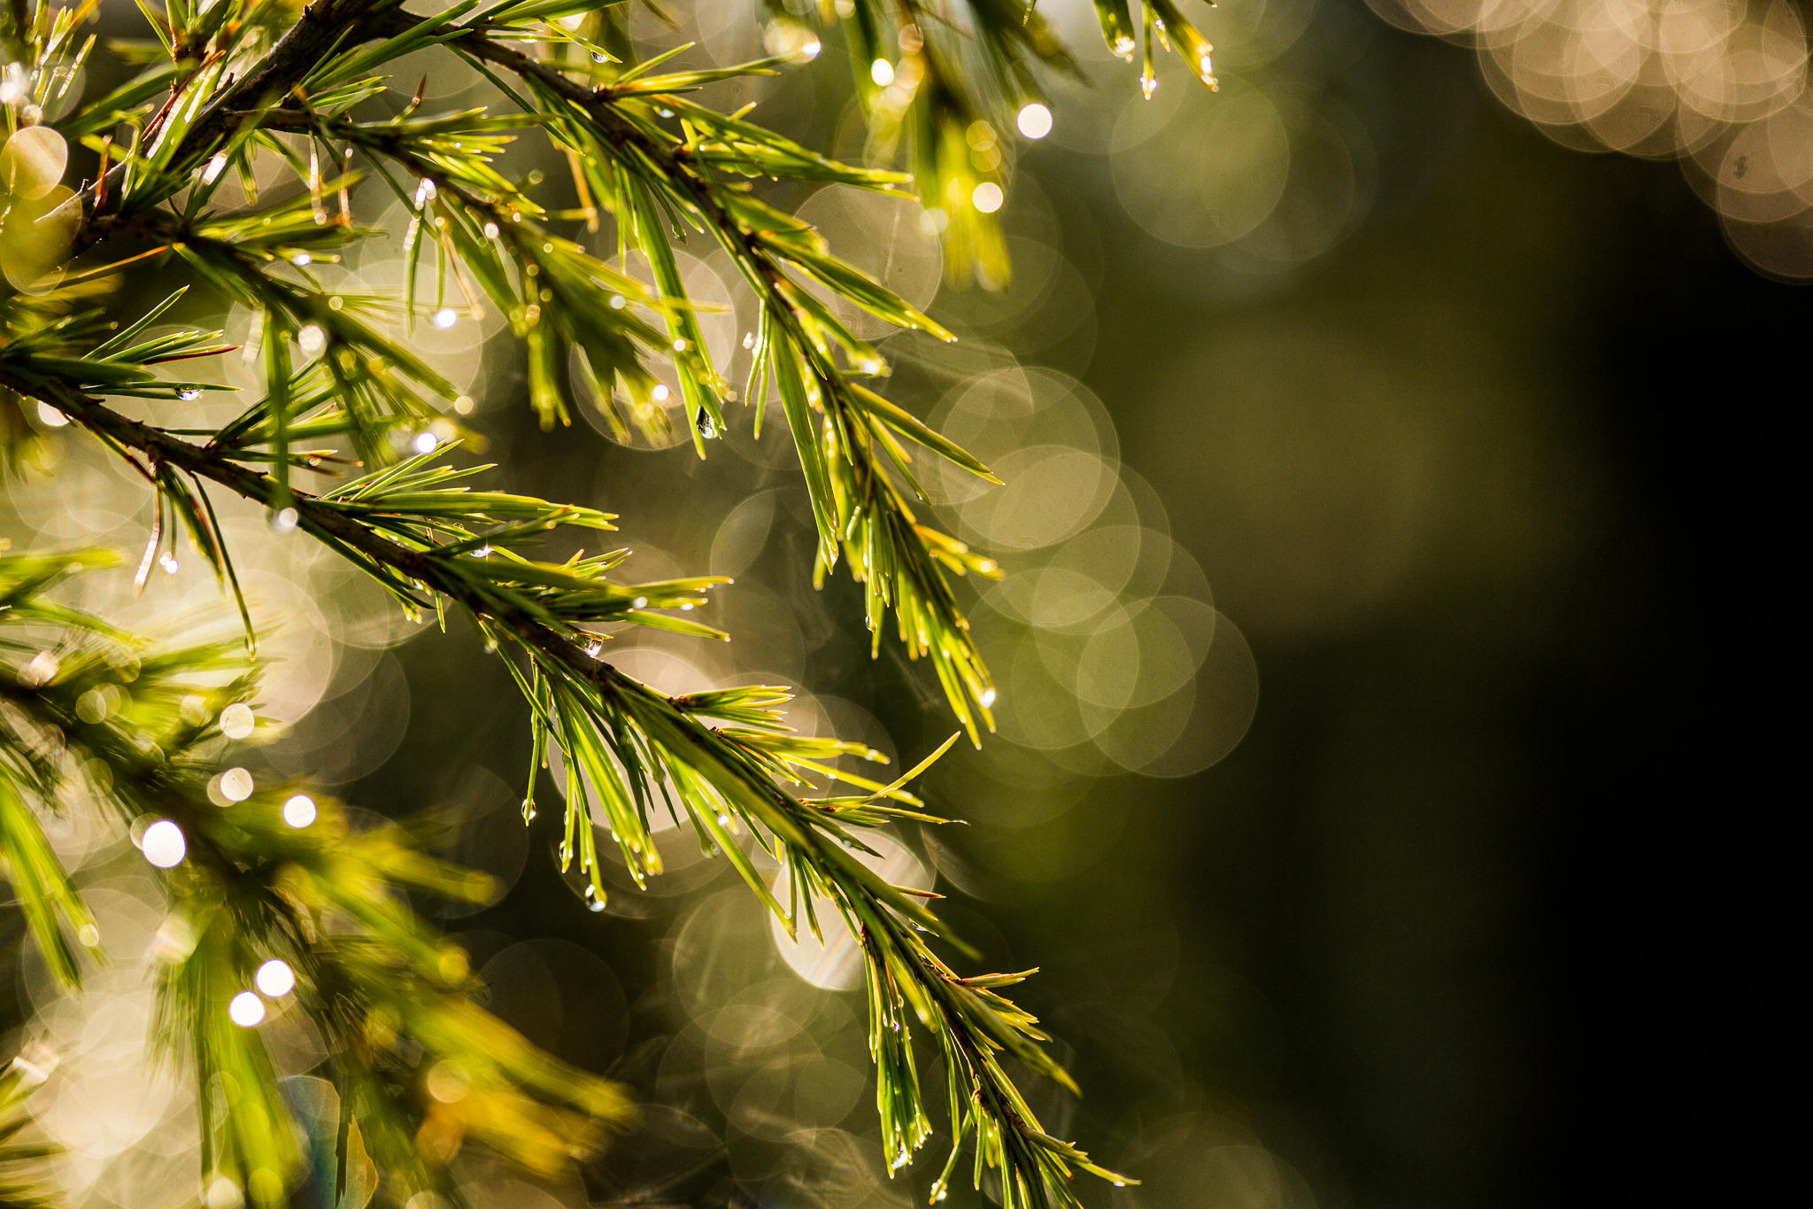
[[[274,479],[216,450],[127,419],[78,392],[5,372],[0,372],[0,384],[44,399],[116,450],[178,468],[267,508],[279,500]],[[877,1064],[883,1133],[896,1165],[930,1135],[910,1055],[910,1022],[917,1017],[945,1055],[954,1140],[961,1144],[965,1133],[975,1133],[977,1175],[983,1165],[999,1167],[1004,1185],[1017,1189],[1008,1193],[1017,1198],[1010,1205],[1077,1204],[1068,1184],[1071,1167],[1120,1178],[1046,1135],[1001,1068],[999,1055],[1010,1053],[1032,1071],[1075,1086],[1039,1046],[1046,1037],[1035,1019],[990,990],[999,981],[966,981],[952,973],[925,941],[925,935],[954,941],[943,923],[916,895],[888,885],[858,859],[856,852],[867,848],[847,823],[879,821],[877,816],[790,794],[776,778],[790,763],[787,752],[796,750],[798,741],[760,727],[711,725],[713,718],[751,718],[754,698],[747,691],[669,698],[596,660],[584,633],[549,620],[519,593],[471,578],[466,573],[466,564],[477,562],[471,551],[448,556],[446,551],[413,549],[330,498],[294,491],[288,500],[301,529],[388,575],[392,585],[419,587],[462,605],[493,642],[508,640],[526,654],[537,750],[542,736],[553,734],[569,759],[564,857],[575,856],[575,843],[584,845],[578,856],[593,879],[595,901],[602,903],[602,885],[596,854],[589,850],[591,830],[582,819],[586,794],[577,772],[582,767],[591,787],[611,792],[618,805],[613,823],[633,870],[640,863],[658,872],[658,861],[649,866],[647,807],[673,783],[700,832],[738,865],[751,888],[790,928],[801,923],[800,912],[776,903],[765,879],[742,857],[729,832],[732,817],[767,837],[776,859],[794,872],[796,886],[838,904],[868,966],[870,1049]],[[606,749],[622,774],[600,758]],[[839,750],[847,749],[832,747],[823,754]],[[874,801],[861,799],[867,807]],[[625,808],[631,803],[635,812]],[[810,915],[805,923],[818,930]]]

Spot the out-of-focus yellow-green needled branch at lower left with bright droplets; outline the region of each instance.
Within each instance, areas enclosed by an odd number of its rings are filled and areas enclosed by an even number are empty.
[[[203,1127],[203,1171],[256,1205],[290,1204],[305,1155],[256,1030],[288,1004],[328,1042],[341,1180],[357,1126],[399,1202],[450,1191],[444,1164],[468,1136],[551,1175],[624,1124],[624,1093],[482,1011],[464,950],[399,897],[484,901],[488,877],[422,856],[395,825],[357,830],[332,799],[256,788],[230,767],[223,720],[248,714],[256,692],[245,654],[150,645],[44,598],[107,562],[0,555],[0,859],[53,973],[71,984],[82,972],[67,932],[92,952],[100,935],[40,814],[103,803],[163,870],[158,1037],[189,1055],[203,1098],[232,1089]],[[225,781],[234,776],[243,781]]]

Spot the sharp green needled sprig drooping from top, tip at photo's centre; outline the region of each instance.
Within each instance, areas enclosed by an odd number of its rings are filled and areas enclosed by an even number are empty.
[[[745,183],[745,178],[789,176],[890,189],[897,178],[829,161],[754,123],[716,114],[680,96],[682,85],[658,91],[658,82],[642,80],[635,91],[587,87],[548,62],[479,34],[453,45],[528,83],[531,105],[582,165],[587,194],[616,214],[620,239],[633,241],[654,266],[656,285],[676,315],[669,324],[676,350],[703,353],[703,341],[689,319],[691,303],[671,248],[674,228],[665,216],[687,216],[738,266],[761,310],[751,334],[749,399],[760,408],[771,386],[780,395],[818,524],[819,575],[836,566],[839,553],[848,558],[850,573],[867,589],[867,624],[876,642],[892,609],[906,653],[930,656],[952,711],[977,741],[979,729],[992,725],[988,711],[995,689],[948,575],[994,575],[997,567],[919,522],[906,498],[908,491],[919,495],[919,488],[903,439],[984,479],[994,477],[974,457],[861,384],[885,372],[879,352],[850,332],[800,277],[897,326],[945,339],[950,334],[830,256],[814,230],[761,203]],[[754,63],[745,71],[767,69],[767,63]],[[662,125],[664,114],[682,125],[678,138]],[[725,179],[725,172],[732,178]],[[702,433],[723,424],[718,399],[725,384],[709,370],[702,355],[684,363],[680,375],[689,415]]]

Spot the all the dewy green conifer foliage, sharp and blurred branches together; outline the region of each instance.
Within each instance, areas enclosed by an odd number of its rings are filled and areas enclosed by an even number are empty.
[[[934,1196],[968,1147],[972,1182],[992,1171],[1008,1209],[1081,1204],[1075,1173],[1122,1176],[1046,1133],[1010,1075],[1071,1086],[1037,1020],[1003,993],[1024,973],[957,973],[950,962],[965,946],[930,908],[936,895],[894,886],[861,859],[868,828],[939,821],[910,787],[943,749],[899,778],[854,776],[847,758],[879,754],[794,734],[781,691],[667,696],[600,658],[600,636],[618,625],[720,638],[693,616],[720,580],[638,582],[627,551],[540,560],[549,531],[609,533],[616,518],[513,493],[508,466],[464,457],[471,401],[399,337],[441,314],[502,314],[528,402],[549,428],[591,406],[580,399],[600,399],[615,428],[665,435],[669,388],[656,366],[678,382],[700,455],[729,424],[760,431],[776,406],[810,498],[818,576],[841,566],[863,584],[874,643],[892,634],[923,656],[957,729],[979,741],[995,691],[954,580],[999,571],[936,526],[917,468],[941,459],[992,475],[887,399],[885,359],[841,305],[950,334],[765,198],[774,181],[910,190],[954,274],[1004,283],[999,201],[977,199],[1006,187],[1015,125],[1033,138],[1050,127],[1041,80],[1075,71],[1064,45],[1023,0],[821,11],[772,0],[772,58],[687,69],[685,45],[636,60],[627,4],[428,7],[140,0],[143,36],[103,45],[91,29],[98,0],[0,4],[9,471],[42,473],[49,426],[98,442],[156,500],[143,555],[127,564],[136,582],[189,546],[243,625],[212,642],[127,633],[60,591],[118,555],[0,547],[0,870],[31,943],[69,986],[103,959],[44,823],[105,814],[160,870],[169,899],[158,1037],[201,1086],[225,1077],[234,1089],[203,1122],[198,1189],[210,1204],[221,1187],[254,1205],[290,1204],[308,1176],[257,1030],[272,999],[294,997],[326,1040],[343,1113],[335,1178],[348,1178],[357,1136],[386,1204],[422,1191],[457,1200],[446,1158],[466,1140],[553,1171],[633,1115],[624,1089],[488,1015],[464,952],[406,906],[406,892],[482,901],[484,875],[426,856],[406,825],[355,825],[308,785],[238,792],[223,779],[238,770],[259,694],[257,633],[216,517],[218,498],[241,497],[267,509],[270,540],[319,542],[401,609],[442,624],[462,614],[484,634],[531,720],[524,816],[553,765],[567,790],[558,857],[598,904],[606,856],[587,798],[607,819],[611,859],[638,883],[662,872],[651,819],[667,812],[789,930],[818,933],[825,910],[843,919],[867,970],[894,1165],[941,1113],[950,1153]],[[1166,45],[1213,85],[1209,47],[1173,0],[1148,0],[1139,18],[1128,0],[1097,9],[1110,47],[1142,56],[1148,87]],[[906,170],[827,158],[698,100],[734,76],[801,69],[834,27],[879,163]],[[422,53],[482,73],[495,103],[433,112],[397,67]],[[125,82],[89,94],[85,69],[100,56]],[[517,140],[551,145],[571,178],[511,176],[502,156]],[[368,225],[373,190],[406,207],[406,232]],[[616,256],[587,250],[591,232],[615,237]],[[408,286],[397,297],[330,288],[315,272],[399,234]],[[760,305],[747,381],[713,363],[676,259],[689,239],[722,248]],[[225,390],[208,364],[236,350],[196,315],[232,305],[254,315],[236,355],[261,368],[263,393],[219,428],[160,421],[176,401]],[[838,778],[848,794],[801,790]],[[223,785],[227,808],[210,798]],[[756,868],[756,846],[785,877]],[[921,1075],[930,1059],[937,1088]],[[455,1106],[433,1095],[446,1071],[462,1082]],[[40,1155],[5,1146],[24,1095],[47,1077],[56,1073],[31,1057],[0,1075],[4,1204],[27,1204]]]

